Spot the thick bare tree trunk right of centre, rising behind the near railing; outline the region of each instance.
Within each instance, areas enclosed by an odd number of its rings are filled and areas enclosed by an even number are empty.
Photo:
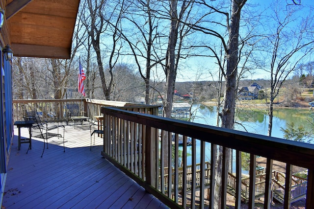
[[[223,47],[224,59],[226,60],[226,70],[223,70],[223,63],[220,62],[219,56],[217,52],[215,52],[214,47],[208,47],[211,52],[213,52],[214,57],[218,61],[218,65],[220,71],[225,79],[225,92],[224,92],[224,100],[223,100],[223,108],[219,116],[221,118],[221,127],[233,129],[235,123],[235,99],[237,92],[237,66],[239,61],[238,50],[239,50],[239,28],[240,28],[240,15],[241,9],[243,8],[246,0],[232,0],[231,1],[231,14],[229,12],[225,12],[226,7],[219,4],[209,5],[207,1],[200,0],[199,4],[206,6],[209,9],[209,12],[204,15],[209,16],[210,14],[222,15],[226,22],[225,24],[217,22],[215,19],[209,20],[210,23],[216,25],[223,25],[227,29],[227,39],[225,41],[225,34],[220,34],[218,31],[215,31],[211,28],[204,27],[201,25],[192,25],[193,28],[202,31],[203,33],[210,35],[214,38],[220,40],[221,45]],[[231,16],[230,16],[231,15]],[[217,155],[217,167],[216,167],[216,186],[215,186],[215,203],[213,203],[214,208],[221,208],[221,201],[225,201],[224,198],[221,197],[221,177],[222,177],[222,155],[223,155],[223,147],[219,146],[219,151]],[[226,151],[226,162],[229,164],[230,158],[230,150]]]

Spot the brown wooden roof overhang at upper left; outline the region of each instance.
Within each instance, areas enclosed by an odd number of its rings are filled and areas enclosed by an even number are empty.
[[[69,59],[79,1],[4,1],[7,33],[1,33],[14,56]]]

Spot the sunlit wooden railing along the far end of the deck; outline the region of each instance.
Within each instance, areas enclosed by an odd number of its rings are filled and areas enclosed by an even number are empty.
[[[156,105],[142,105],[129,102],[99,99],[15,99],[13,100],[14,121],[23,120],[26,111],[36,110],[44,120],[65,121],[67,112],[74,109],[78,114],[95,120],[101,115],[102,107],[116,107],[123,110],[158,115]]]

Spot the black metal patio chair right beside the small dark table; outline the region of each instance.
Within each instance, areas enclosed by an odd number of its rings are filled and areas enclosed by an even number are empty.
[[[35,138],[44,139],[44,149],[41,154],[41,157],[43,157],[44,151],[45,151],[45,143],[47,143],[47,149],[48,149],[48,139],[52,137],[58,137],[63,138],[63,152],[65,152],[65,146],[64,146],[64,125],[52,125],[48,126],[47,121],[42,121],[40,119],[40,116],[38,115],[38,112],[36,110],[33,111],[26,111],[26,116],[23,116],[25,121],[33,120],[35,123],[31,127],[33,129],[33,134]],[[61,134],[59,134],[59,127],[63,127],[63,137]],[[48,131],[52,131],[54,129],[57,129],[57,133],[52,133]],[[46,142],[45,142],[46,139]]]

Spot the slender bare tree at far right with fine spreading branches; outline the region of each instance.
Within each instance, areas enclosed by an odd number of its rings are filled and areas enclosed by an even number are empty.
[[[273,12],[270,17],[267,17],[267,20],[274,20],[276,25],[269,28],[275,28],[275,31],[273,33],[269,31],[268,38],[262,42],[265,48],[261,53],[268,61],[264,70],[270,76],[268,136],[271,136],[272,132],[275,98],[291,72],[296,70],[297,65],[312,53],[314,43],[312,30],[309,30],[309,26],[313,23],[313,16],[298,19],[299,16],[296,12],[302,9],[301,6],[285,6],[280,2],[275,2],[271,8],[273,8]],[[297,21],[298,24],[296,24]],[[295,24],[298,27],[292,26]],[[268,57],[269,59],[267,59]]]

